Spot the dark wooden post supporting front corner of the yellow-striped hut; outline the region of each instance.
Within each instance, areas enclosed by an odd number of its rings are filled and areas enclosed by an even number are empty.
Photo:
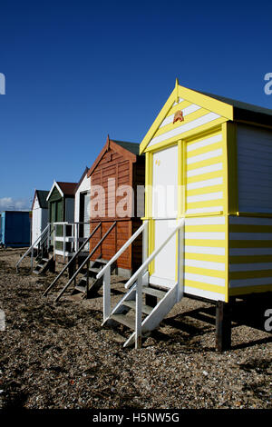
[[[216,306],[216,349],[229,350],[231,346],[230,304],[218,301]]]

